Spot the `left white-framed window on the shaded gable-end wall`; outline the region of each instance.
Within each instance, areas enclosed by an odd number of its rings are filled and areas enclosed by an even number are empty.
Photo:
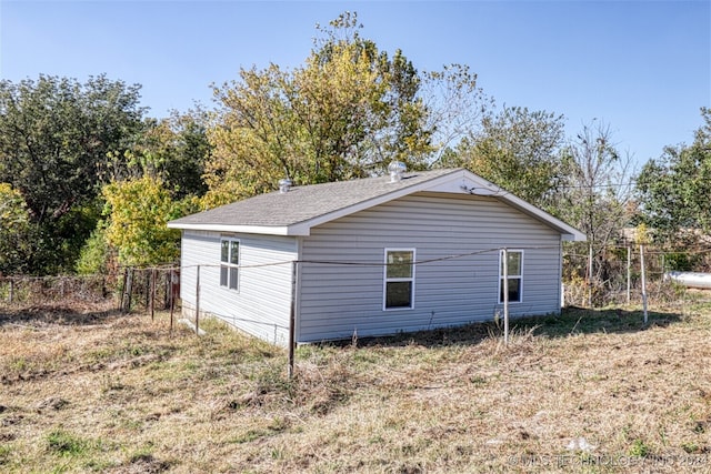
[[[384,275],[383,307],[411,309],[414,292],[414,250],[385,249]]]

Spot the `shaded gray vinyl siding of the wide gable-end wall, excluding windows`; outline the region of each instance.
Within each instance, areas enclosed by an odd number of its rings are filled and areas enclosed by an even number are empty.
[[[523,250],[511,316],[560,311],[560,234],[493,198],[418,193],[317,226],[302,243],[298,341],[491,320],[502,312],[502,246]],[[383,311],[385,248],[414,249],[422,262],[413,309]]]

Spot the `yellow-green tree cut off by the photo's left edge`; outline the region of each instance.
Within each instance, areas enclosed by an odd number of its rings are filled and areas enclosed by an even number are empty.
[[[22,194],[10,184],[0,183],[0,274],[26,271],[30,231]]]

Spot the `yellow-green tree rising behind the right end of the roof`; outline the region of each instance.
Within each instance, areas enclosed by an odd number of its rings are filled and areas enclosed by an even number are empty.
[[[487,114],[478,132],[445,154],[445,167],[464,167],[507,191],[552,210],[561,180],[563,117],[527,108]]]

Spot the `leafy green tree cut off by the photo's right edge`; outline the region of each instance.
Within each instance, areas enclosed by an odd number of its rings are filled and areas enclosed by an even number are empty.
[[[691,145],[667,147],[638,178],[643,221],[661,241],[683,234],[711,233],[711,109],[702,108],[701,125]]]

